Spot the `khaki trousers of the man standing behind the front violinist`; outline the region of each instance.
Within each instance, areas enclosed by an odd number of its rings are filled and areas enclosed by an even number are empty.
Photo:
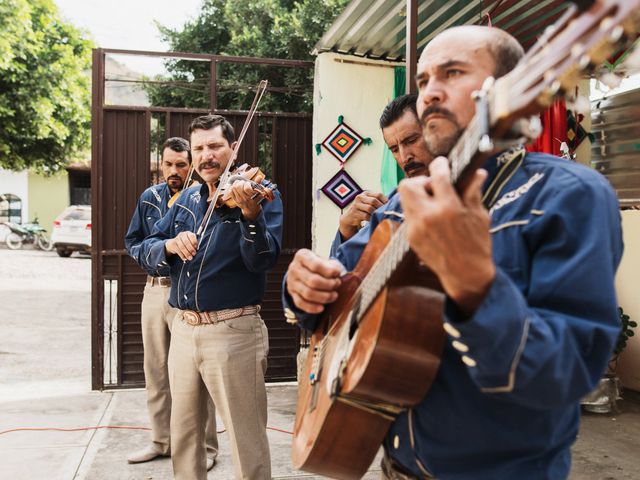
[[[142,343],[144,378],[147,385],[147,409],[151,422],[151,441],[163,455],[171,454],[171,391],[169,389],[169,344],[176,309],[169,305],[171,287],[147,284],[142,297]],[[207,456],[218,455],[216,411],[209,402],[206,423]]]

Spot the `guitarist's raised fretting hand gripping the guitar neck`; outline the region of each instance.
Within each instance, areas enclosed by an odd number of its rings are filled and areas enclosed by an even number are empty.
[[[477,170],[462,196],[451,184],[449,161],[436,158],[430,177],[403,180],[398,188],[412,250],[467,315],[482,303],[496,274],[489,213],[482,204],[485,170]]]

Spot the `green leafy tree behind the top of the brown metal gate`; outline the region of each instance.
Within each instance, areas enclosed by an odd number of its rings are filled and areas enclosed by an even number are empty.
[[[348,0],[205,0],[200,15],[182,30],[159,26],[171,50],[234,56],[313,60],[311,50]],[[146,90],[158,106],[207,108],[209,65],[169,60],[169,77],[156,77]],[[265,97],[263,110],[311,111],[313,69],[221,63],[217,104],[246,109],[260,79],[278,93]]]

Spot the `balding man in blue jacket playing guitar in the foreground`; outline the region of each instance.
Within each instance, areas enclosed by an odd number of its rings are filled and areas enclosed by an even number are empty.
[[[429,392],[384,440],[386,479],[567,478],[580,399],[619,333],[620,214],[604,177],[514,148],[489,158],[460,194],[451,184],[443,155],[476,113],[472,93],[523,53],[498,28],[464,26],[434,37],[418,63],[418,114],[440,157],[429,177],[401,182],[371,226],[386,212],[404,217],[412,250],[442,284],[446,338]],[[287,317],[315,328],[367,240],[354,236],[337,260],[299,251]]]

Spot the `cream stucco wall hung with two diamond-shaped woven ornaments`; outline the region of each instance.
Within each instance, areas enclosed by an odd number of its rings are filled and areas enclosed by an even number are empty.
[[[384,151],[378,121],[393,97],[393,66],[334,53],[322,53],[316,58],[313,143],[322,143],[338,124],[338,116],[343,115],[347,125],[373,141],[349,158],[345,170],[361,188],[376,192],[380,191]],[[313,249],[327,255],[341,212],[320,189],[338,172],[340,162],[324,148],[320,155],[315,151],[313,155]]]

